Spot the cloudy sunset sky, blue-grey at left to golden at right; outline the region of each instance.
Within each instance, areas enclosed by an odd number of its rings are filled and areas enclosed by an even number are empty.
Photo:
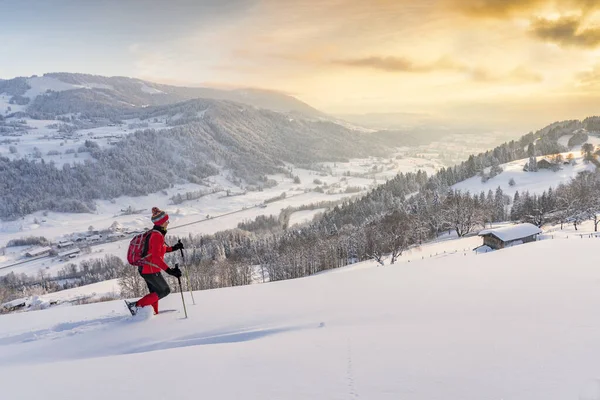
[[[333,114],[600,114],[596,0],[0,0],[0,78],[278,90]],[[535,122],[534,122],[535,121]]]

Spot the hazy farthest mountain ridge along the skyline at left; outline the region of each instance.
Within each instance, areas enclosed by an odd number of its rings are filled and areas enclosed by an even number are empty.
[[[234,101],[278,112],[292,112],[307,117],[324,114],[300,100],[275,91],[260,89],[220,90],[203,87],[179,87],[126,77],[48,73],[43,76],[19,77],[0,81],[0,115],[16,111],[40,111],[38,97],[48,92],[60,93],[61,101],[86,99],[105,105],[129,107],[173,104],[196,98]]]

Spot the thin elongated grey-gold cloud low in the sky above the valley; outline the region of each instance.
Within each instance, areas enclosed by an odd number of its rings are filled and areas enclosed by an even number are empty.
[[[434,71],[463,71],[465,66],[449,57],[442,57],[433,63],[417,63],[406,57],[364,57],[335,60],[334,64],[349,67],[373,68],[387,72],[416,72],[426,73]]]

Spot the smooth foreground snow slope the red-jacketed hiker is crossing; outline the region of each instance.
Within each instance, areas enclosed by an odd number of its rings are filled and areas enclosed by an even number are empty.
[[[4,315],[2,397],[598,399],[596,249],[542,241],[197,292],[188,320],[132,320],[122,302]]]

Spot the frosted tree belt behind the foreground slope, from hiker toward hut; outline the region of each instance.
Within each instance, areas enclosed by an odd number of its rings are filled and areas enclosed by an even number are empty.
[[[299,278],[368,259],[383,263],[388,254],[395,262],[406,249],[443,230],[466,235],[478,224],[505,220],[509,200],[501,189],[487,196],[423,194],[357,225],[337,227],[326,215],[309,226],[273,233],[281,222],[261,216],[239,225],[253,232],[235,229],[180,239],[186,246],[192,288],[212,289]],[[181,262],[178,255],[167,260],[171,265]]]

